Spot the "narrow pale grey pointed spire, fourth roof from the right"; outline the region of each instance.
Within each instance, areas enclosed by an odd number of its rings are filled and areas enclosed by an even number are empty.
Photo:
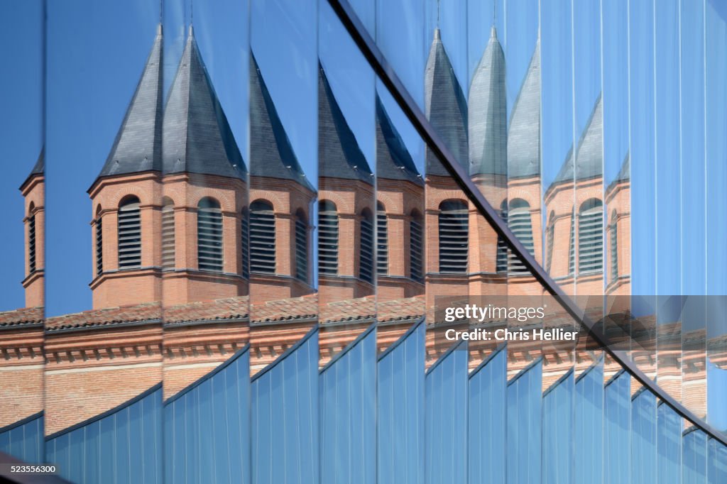
[[[505,55],[491,29],[490,40],[470,84],[467,127],[470,175],[507,175]]]

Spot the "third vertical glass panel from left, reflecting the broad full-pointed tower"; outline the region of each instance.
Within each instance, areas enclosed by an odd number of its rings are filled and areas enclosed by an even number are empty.
[[[248,8],[168,1],[164,480],[249,480]],[[166,210],[166,212],[165,212]],[[165,214],[166,219],[165,219]],[[211,476],[211,477],[209,477]]]

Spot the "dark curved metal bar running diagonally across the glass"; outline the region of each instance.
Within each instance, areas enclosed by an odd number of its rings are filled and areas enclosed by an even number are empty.
[[[457,185],[465,192],[467,198],[477,207],[478,211],[485,217],[490,223],[491,227],[500,235],[507,246],[513,253],[515,253],[523,262],[523,265],[527,267],[530,273],[537,279],[537,281],[549,292],[553,297],[558,300],[564,310],[571,315],[574,320],[577,320],[588,332],[588,334],[595,339],[601,347],[611,355],[616,363],[619,363],[631,376],[633,376],[640,384],[648,388],[649,391],[654,393],[659,400],[662,400],[666,405],[672,408],[677,414],[688,420],[694,426],[699,427],[703,432],[707,433],[710,437],[718,440],[723,445],[727,445],[727,436],[722,432],[704,422],[692,411],[683,406],[669,393],[667,393],[662,387],[650,379],[638,366],[631,360],[628,353],[623,350],[614,350],[613,344],[609,341],[606,334],[603,333],[601,327],[597,322],[588,318],[585,311],[582,310],[576,302],[569,297],[561,286],[558,286],[553,278],[545,272],[545,269],[535,258],[530,254],[523,244],[518,241],[513,232],[507,227],[507,224],[497,215],[497,212],[492,208],[488,201],[484,198],[480,190],[475,187],[472,180],[470,180],[469,174],[465,173],[465,170],[455,161],[451,151],[446,147],[442,138],[433,128],[433,126],[427,120],[427,117],[422,110],[411,97],[411,94],[406,90],[401,80],[396,76],[394,68],[387,62],[386,58],[379,50],[374,39],[371,38],[369,32],[361,20],[358,19],[356,11],[351,7],[348,0],[328,0],[328,3],[336,12],[336,15],[340,19],[341,23],[348,31],[349,35],[356,42],[358,49],[366,57],[366,60],[374,69],[379,79],[383,82],[390,94],[394,97],[399,107],[409,118],[409,121],[417,129],[419,136],[422,137],[427,147],[435,153],[439,158],[442,165],[447,169],[449,174],[454,178]]]

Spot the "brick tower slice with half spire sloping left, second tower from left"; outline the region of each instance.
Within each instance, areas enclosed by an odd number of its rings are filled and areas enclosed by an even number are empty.
[[[160,26],[111,153],[88,190],[94,309],[161,300],[161,55]]]

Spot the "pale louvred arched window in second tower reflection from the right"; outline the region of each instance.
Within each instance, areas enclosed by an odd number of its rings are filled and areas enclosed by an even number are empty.
[[[603,270],[603,203],[591,198],[578,213],[578,272]]]

